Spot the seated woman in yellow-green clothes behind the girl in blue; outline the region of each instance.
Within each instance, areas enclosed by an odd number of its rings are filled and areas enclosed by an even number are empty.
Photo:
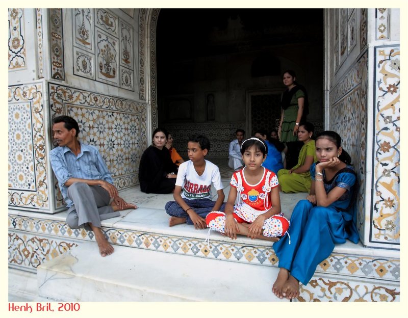
[[[281,169],[277,173],[279,185],[283,192],[309,192],[312,183],[310,167],[316,162],[315,141],[312,139],[315,127],[312,123],[301,123],[297,132],[299,141],[303,142],[297,165],[292,169]]]

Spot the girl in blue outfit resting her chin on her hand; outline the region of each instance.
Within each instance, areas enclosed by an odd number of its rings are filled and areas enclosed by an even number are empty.
[[[273,244],[280,270],[272,291],[279,298],[297,298],[299,282],[309,283],[335,244],[346,239],[359,242],[353,221],[358,183],[340,136],[323,131],[316,138],[316,155],[318,162],[310,168],[310,195],[293,209],[289,234]]]

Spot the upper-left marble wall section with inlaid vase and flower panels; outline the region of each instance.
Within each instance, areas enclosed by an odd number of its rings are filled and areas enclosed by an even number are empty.
[[[105,9],[71,11],[74,74],[134,91],[133,26]]]

